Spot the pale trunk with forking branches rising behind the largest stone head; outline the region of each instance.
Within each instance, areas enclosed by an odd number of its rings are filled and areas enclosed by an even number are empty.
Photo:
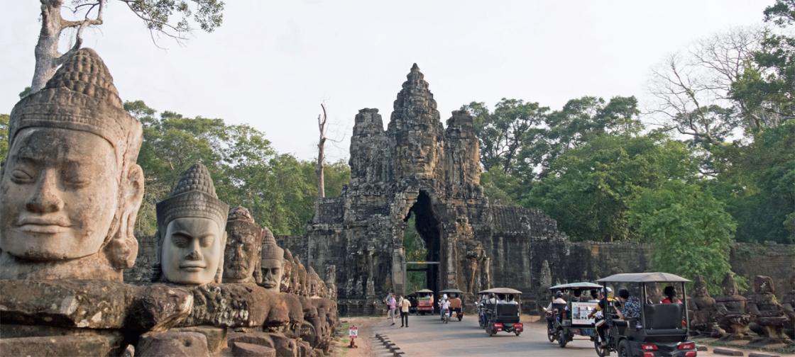
[[[83,19],[66,20],[60,15],[64,0],[41,0],[41,32],[36,49],[33,51],[36,57],[36,67],[33,70],[33,82],[30,83],[31,92],[44,88],[52,75],[55,75],[58,66],[80,49],[80,45],[83,44],[83,29],[90,25],[102,25],[106,2],[107,0],[97,0],[79,4],[75,8],[76,12],[81,8],[87,8]],[[97,10],[96,15],[91,18],[91,13],[95,9]],[[77,29],[75,44],[66,53],[60,53],[58,42],[61,33],[65,29],[73,28]]]

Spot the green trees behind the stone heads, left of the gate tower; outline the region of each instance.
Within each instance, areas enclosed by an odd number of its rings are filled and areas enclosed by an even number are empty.
[[[146,189],[136,222],[139,232],[157,230],[155,204],[167,198],[181,173],[198,162],[207,166],[224,202],[246,207],[258,224],[276,234],[304,232],[317,197],[314,162],[277,154],[265,134],[249,125],[172,112],[155,117],[157,111],[141,101],[126,102],[125,109],[144,125],[138,163]],[[339,195],[350,180],[350,169],[338,162],[325,170],[327,196]]]

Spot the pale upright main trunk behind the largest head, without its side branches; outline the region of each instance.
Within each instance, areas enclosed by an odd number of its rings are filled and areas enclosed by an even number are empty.
[[[58,67],[57,59],[58,40],[64,29],[63,18],[60,17],[60,7],[63,0],[41,0],[41,33],[36,44],[34,55],[36,67],[33,71],[33,82],[30,83],[30,93],[37,92],[45,87],[47,81],[55,75]]]

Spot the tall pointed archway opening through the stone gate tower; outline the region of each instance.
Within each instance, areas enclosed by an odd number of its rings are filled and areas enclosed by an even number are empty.
[[[405,292],[411,293],[419,289],[430,289],[438,292],[440,286],[441,232],[440,223],[433,214],[432,202],[428,193],[420,191],[417,202],[409,209],[404,218],[406,227],[403,236],[403,248],[406,261],[433,262],[413,264],[404,272],[407,286]]]

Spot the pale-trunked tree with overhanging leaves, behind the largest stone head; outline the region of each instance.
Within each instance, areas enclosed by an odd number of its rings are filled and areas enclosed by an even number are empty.
[[[83,44],[83,30],[88,26],[103,24],[103,13],[108,0],[72,0],[74,20],[61,15],[64,0],[41,1],[41,32],[34,50],[36,67],[30,93],[44,88],[56,69]],[[138,16],[154,41],[155,33],[172,37],[177,41],[192,31],[195,22],[206,32],[212,32],[223,22],[223,1],[220,0],[118,0]],[[173,22],[173,17],[179,20]],[[61,54],[58,44],[66,29],[76,29],[74,44],[68,52]]]

